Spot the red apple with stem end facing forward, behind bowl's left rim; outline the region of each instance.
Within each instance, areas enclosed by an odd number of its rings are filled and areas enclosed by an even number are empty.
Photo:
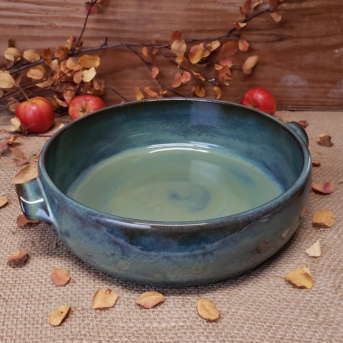
[[[69,117],[71,120],[94,112],[97,109],[106,107],[102,99],[92,94],[77,95],[69,105]]]

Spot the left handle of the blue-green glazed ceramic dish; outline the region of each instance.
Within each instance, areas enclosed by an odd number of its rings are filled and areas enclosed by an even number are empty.
[[[39,176],[24,184],[16,184],[15,190],[21,209],[27,219],[39,220],[56,226],[54,215],[47,202],[47,197]]]

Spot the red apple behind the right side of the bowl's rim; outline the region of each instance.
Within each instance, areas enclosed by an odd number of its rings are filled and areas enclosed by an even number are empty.
[[[263,87],[251,88],[243,95],[240,103],[245,106],[256,108],[272,116],[276,111],[276,100],[274,95]]]

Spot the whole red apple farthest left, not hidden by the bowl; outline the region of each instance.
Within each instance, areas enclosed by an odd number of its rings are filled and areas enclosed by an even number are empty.
[[[16,108],[15,116],[20,119],[29,133],[48,131],[55,121],[54,107],[49,100],[41,96],[22,102]]]

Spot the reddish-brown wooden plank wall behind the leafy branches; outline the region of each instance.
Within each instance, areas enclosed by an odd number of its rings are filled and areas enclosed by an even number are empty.
[[[102,6],[98,14],[90,17],[84,47],[98,46],[105,37],[109,44],[149,43],[152,39],[167,43],[174,30],[179,30],[185,39],[219,36],[233,22],[241,20],[242,3],[240,0],[109,0],[107,7]],[[247,52],[238,52],[233,61],[241,64],[246,57],[258,55],[259,63],[250,75],[235,72],[230,85],[221,86],[222,99],[239,102],[249,88],[264,86],[275,94],[279,109],[342,109],[341,0],[286,3],[278,10],[282,15],[280,23],[275,23],[267,13],[240,31],[250,47]],[[21,51],[27,48],[42,51],[63,45],[70,35],[79,35],[84,16],[84,0],[1,0],[0,51],[7,47],[9,38],[15,40]],[[141,53],[141,48],[137,51]],[[135,100],[136,86],[160,90],[149,69],[128,49],[103,50],[99,56],[99,78],[129,100]],[[161,81],[171,87],[177,68],[159,56],[154,57],[152,64],[160,68]],[[214,76],[213,69],[208,67],[199,71],[206,78]],[[206,82],[201,85],[206,89],[206,97],[213,98],[213,86]],[[181,85],[177,91],[188,96],[191,85]],[[107,91],[107,105],[120,101],[114,92]]]

